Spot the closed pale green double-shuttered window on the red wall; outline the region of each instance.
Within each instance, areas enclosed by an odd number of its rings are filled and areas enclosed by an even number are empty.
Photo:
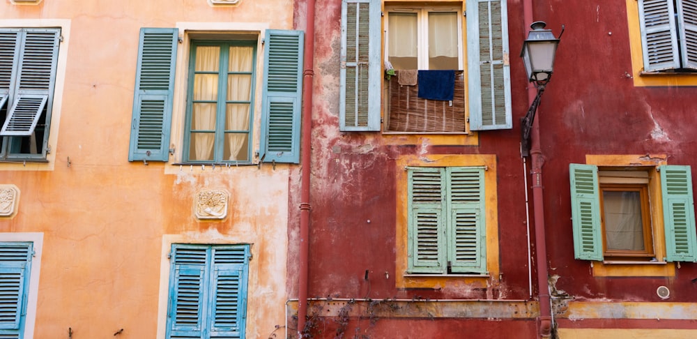
[[[484,167],[407,167],[408,273],[487,273]]]

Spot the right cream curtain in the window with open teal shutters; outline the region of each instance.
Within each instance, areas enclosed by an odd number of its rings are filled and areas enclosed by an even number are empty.
[[[229,70],[231,72],[251,72],[251,46],[230,47]],[[251,74],[231,74],[227,79],[227,100],[250,101],[252,93]],[[248,130],[250,126],[250,104],[231,103],[227,105],[226,130]],[[227,143],[230,150],[228,160],[240,160],[240,151],[245,146],[249,133],[227,133]],[[247,158],[244,154],[243,158]]]

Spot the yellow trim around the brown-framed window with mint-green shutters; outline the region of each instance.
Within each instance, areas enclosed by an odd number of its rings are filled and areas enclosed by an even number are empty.
[[[652,155],[586,155],[585,163],[597,166],[659,166],[668,165],[665,154]],[[593,276],[636,277],[636,276],[675,276],[675,264],[665,262],[666,237],[663,225],[663,204],[661,200],[661,179],[657,171],[649,171],[649,199],[651,204],[651,224],[653,229],[654,254],[658,262],[605,261],[593,262]]]

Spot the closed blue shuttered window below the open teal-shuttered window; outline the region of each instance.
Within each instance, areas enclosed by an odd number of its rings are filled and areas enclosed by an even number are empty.
[[[249,245],[173,244],[167,339],[245,338]]]

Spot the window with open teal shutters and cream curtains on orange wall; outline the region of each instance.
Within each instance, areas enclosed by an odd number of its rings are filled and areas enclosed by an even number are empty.
[[[266,30],[261,105],[255,96],[258,33],[190,35],[184,146],[175,158],[191,164],[298,163],[302,31]],[[179,141],[169,139],[178,39],[178,29],[141,29],[130,161],[168,161],[176,152]],[[258,133],[255,106],[261,107]]]

